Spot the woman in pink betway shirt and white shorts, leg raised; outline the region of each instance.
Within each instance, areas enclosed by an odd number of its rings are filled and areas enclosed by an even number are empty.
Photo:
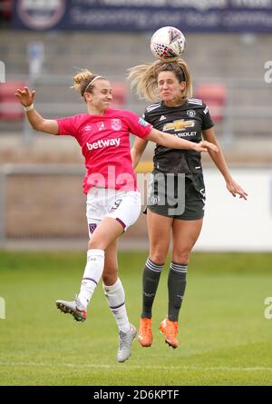
[[[102,278],[105,297],[119,329],[117,360],[131,355],[131,342],[136,329],[128,320],[125,294],[118,277],[117,241],[141,212],[141,195],[131,164],[130,133],[164,147],[184,148],[196,152],[217,152],[209,142],[191,143],[152,128],[130,111],[110,108],[111,83],[98,74],[85,70],[73,77],[73,87],[79,91],[87,112],[51,120],[34,109],[34,91],[18,89],[15,96],[24,106],[34,130],[54,135],[71,135],[80,144],[85,158],[86,175],[83,192],[87,194],[87,222],[90,240],[87,263],[79,294],[73,301],[56,301],[64,313],[77,321],[87,318],[87,306]]]

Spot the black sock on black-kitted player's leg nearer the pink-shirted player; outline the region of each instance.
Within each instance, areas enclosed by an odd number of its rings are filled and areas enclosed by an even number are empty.
[[[160,281],[163,264],[156,264],[149,258],[142,274],[142,312],[141,318],[152,317],[152,305]]]

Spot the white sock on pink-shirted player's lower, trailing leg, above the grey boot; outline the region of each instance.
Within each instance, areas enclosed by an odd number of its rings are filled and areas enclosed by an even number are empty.
[[[112,286],[103,284],[103,290],[109,303],[112,314],[117,322],[118,329],[128,332],[131,328],[125,306],[125,294],[119,278]]]

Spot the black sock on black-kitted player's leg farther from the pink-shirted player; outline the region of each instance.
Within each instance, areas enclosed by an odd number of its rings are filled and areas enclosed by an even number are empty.
[[[168,275],[168,318],[171,321],[178,321],[182,299],[186,288],[187,264],[176,262],[170,263]]]

